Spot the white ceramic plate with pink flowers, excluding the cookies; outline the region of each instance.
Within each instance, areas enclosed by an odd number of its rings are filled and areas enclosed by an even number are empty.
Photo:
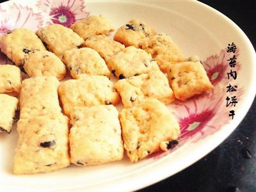
[[[127,20],[143,20],[159,33],[168,33],[186,56],[198,55],[214,84],[214,90],[187,102],[169,106],[180,123],[182,134],[173,150],[154,154],[136,164],[125,158],[102,166],[70,166],[57,172],[35,175],[13,175],[12,159],[17,145],[17,132],[0,135],[0,189],[56,191],[131,191],[165,179],[195,163],[211,152],[234,131],[255,97],[256,58],[252,44],[243,31],[211,7],[197,1],[8,1],[0,5],[0,33],[13,28],[30,28],[72,22],[102,14],[118,28]],[[228,44],[236,52],[227,52]],[[236,67],[229,58],[236,56]],[[1,63],[8,62],[3,54]],[[228,79],[230,69],[237,79]],[[237,91],[227,93],[228,84]],[[236,96],[236,107],[226,108],[226,97]],[[235,111],[234,120],[228,113]]]

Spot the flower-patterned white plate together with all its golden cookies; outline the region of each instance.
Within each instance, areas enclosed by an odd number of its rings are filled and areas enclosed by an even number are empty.
[[[1,191],[134,191],[217,147],[256,56],[198,1],[0,4]]]

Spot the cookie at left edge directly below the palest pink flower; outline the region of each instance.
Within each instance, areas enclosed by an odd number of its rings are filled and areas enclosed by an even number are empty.
[[[26,28],[13,29],[0,36],[0,49],[17,66],[23,65],[23,60],[30,51],[46,50],[38,36]]]

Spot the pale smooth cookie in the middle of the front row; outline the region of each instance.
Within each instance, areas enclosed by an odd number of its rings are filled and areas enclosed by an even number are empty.
[[[71,163],[88,166],[123,158],[121,127],[114,106],[78,108],[72,113],[71,122]]]

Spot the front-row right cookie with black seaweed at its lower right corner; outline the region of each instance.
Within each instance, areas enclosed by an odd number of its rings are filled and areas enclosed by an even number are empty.
[[[122,109],[119,118],[124,148],[132,163],[159,149],[167,150],[168,143],[180,134],[178,122],[157,99],[145,99],[138,106]]]

